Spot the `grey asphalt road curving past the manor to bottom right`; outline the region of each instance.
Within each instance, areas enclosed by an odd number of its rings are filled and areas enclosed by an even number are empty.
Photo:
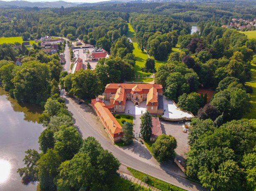
[[[75,125],[79,128],[80,133],[84,138],[93,136],[100,142],[104,149],[108,149],[108,151],[112,152],[112,154],[119,159],[119,161],[127,165],[131,168],[139,170],[141,172],[147,173],[153,177],[157,177],[158,179],[162,179],[165,182],[170,184],[179,186],[183,189],[189,191],[206,191],[207,189],[203,188],[201,185],[191,182],[187,179],[179,177],[178,175],[173,174],[172,172],[168,172],[168,170],[163,166],[163,168],[157,168],[153,165],[148,163],[144,163],[137,158],[130,156],[129,154],[125,153],[124,151],[116,148],[109,140],[105,137],[100,135],[97,130],[97,126],[93,121],[90,119],[88,114],[81,112],[79,107],[81,105],[78,104],[78,101],[69,98],[65,95],[64,91],[61,91],[62,97],[65,99],[65,103],[68,107],[68,110],[72,113],[72,116],[75,121]],[[166,169],[166,170],[164,170]]]

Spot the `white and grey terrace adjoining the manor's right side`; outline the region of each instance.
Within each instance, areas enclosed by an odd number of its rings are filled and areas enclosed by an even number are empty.
[[[163,116],[170,119],[179,119],[183,117],[192,117],[189,112],[183,112],[179,109],[172,100],[163,96],[163,109],[165,110]]]

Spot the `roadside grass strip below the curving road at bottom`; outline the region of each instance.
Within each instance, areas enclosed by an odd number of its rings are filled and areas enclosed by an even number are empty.
[[[132,172],[132,175],[140,180],[144,180],[144,177],[146,176],[146,174],[139,172],[137,170],[134,170],[132,168],[127,167],[127,169]],[[157,189],[160,189],[162,191],[184,191],[184,189],[181,189],[177,186],[174,186],[172,184],[168,184],[162,180],[159,180],[157,178],[148,176],[148,182],[146,182],[147,184],[156,187]]]

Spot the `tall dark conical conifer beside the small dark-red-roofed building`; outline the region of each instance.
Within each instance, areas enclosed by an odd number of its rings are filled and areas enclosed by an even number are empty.
[[[152,117],[146,111],[142,116],[141,116],[141,137],[145,140],[148,141],[152,135]]]

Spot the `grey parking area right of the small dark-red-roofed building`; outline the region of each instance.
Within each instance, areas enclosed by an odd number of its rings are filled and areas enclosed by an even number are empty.
[[[178,123],[174,121],[161,121],[161,129],[164,134],[166,135],[172,135],[177,140],[177,148],[176,151],[176,157],[181,160],[182,162],[185,161],[185,158],[187,156],[185,153],[189,151],[189,145],[188,143],[188,133],[182,132],[182,125],[184,123]],[[184,165],[184,163],[183,163]]]

